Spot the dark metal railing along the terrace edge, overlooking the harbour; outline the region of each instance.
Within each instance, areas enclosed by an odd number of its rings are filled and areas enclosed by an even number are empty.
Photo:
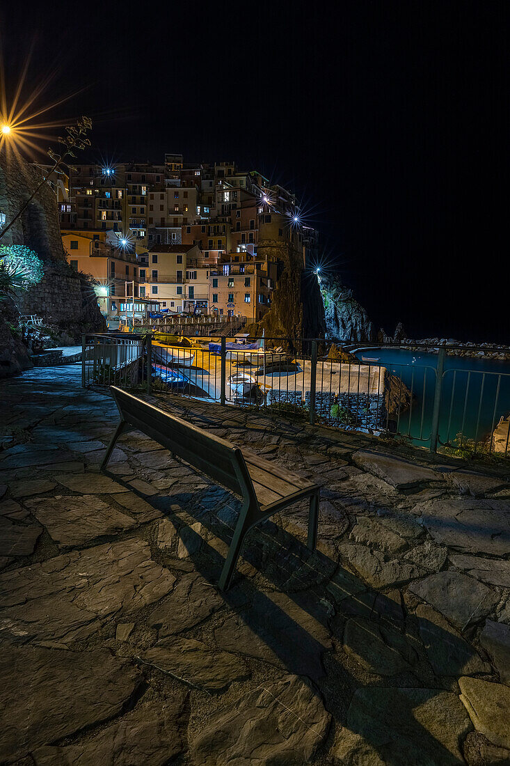
[[[310,424],[398,437],[432,452],[510,458],[510,355],[506,364],[481,362],[430,347],[422,358],[387,344],[364,345],[356,358],[345,351],[326,356],[323,339],[263,339],[263,349],[260,341],[240,345],[225,337],[216,344],[165,340],[157,332],[83,336],[83,386],[142,387],[270,408]],[[401,352],[406,361],[399,361]]]

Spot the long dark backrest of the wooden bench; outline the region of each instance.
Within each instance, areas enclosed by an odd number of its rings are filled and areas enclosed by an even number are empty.
[[[126,423],[237,495],[250,490],[244,457],[237,447],[116,386],[110,391]]]

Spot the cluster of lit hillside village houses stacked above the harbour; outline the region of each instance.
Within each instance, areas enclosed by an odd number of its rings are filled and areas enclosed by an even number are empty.
[[[115,299],[103,300],[107,312],[134,295],[168,313],[259,321],[289,252],[303,266],[316,257],[317,233],[299,221],[294,195],[234,162],[168,153],[162,165],[80,165],[66,188],[67,258]]]

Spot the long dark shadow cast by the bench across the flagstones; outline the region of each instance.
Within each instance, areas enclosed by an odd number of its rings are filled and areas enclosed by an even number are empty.
[[[224,493],[224,507],[220,512],[208,507],[211,490],[216,507],[221,503],[218,493]],[[202,500],[205,500],[205,505],[197,502],[193,489],[191,493],[181,492],[152,499],[156,507],[168,514],[178,530],[188,527],[186,558],[195,571],[211,584],[216,584],[240,503],[216,485],[205,491]],[[201,522],[214,538],[204,540],[189,527],[188,521],[169,512],[170,505],[174,503],[179,504],[192,519]],[[292,515],[292,510],[288,514]],[[217,544],[214,547],[215,539],[224,544],[221,552],[217,551]],[[167,558],[168,565],[172,567],[172,557]],[[254,587],[250,577],[253,569],[260,571],[273,590],[261,591]],[[375,712],[367,709],[365,713],[360,713],[360,709],[367,704],[362,696],[358,699],[357,714],[352,717],[348,712],[352,696],[356,689],[362,687],[392,687],[392,699],[397,688],[423,689],[420,704],[449,689],[453,678],[463,675],[471,656],[466,650],[466,643],[453,631],[450,633],[422,617],[418,620],[414,615],[405,614],[401,604],[369,588],[356,575],[342,568],[338,561],[319,551],[310,552],[303,542],[270,519],[248,533],[233,585],[229,591],[221,593],[221,597],[224,604],[230,607],[230,614],[214,630],[218,648],[264,660],[286,673],[307,676],[319,697],[324,698],[325,707],[332,714],[335,724],[345,727],[346,732],[359,735],[378,752],[384,763],[390,766],[407,766],[410,763],[409,748],[404,747],[400,752],[398,748],[388,745],[388,741],[398,732],[403,732],[407,741],[414,741],[416,749],[416,743],[419,743],[419,749],[423,751],[423,764],[443,766],[461,762],[417,720],[413,700],[406,697],[407,692],[400,694],[397,725],[394,724],[393,713],[384,707]],[[164,604],[165,601],[159,607],[160,614]],[[168,605],[171,608],[171,597],[168,598]],[[419,638],[419,623],[422,633],[431,643],[431,652],[434,647],[437,650],[442,645],[450,647],[446,680],[433,673]],[[348,627],[353,629],[348,630]],[[335,650],[331,635],[341,643],[342,649]],[[346,664],[341,662],[342,656],[345,660],[344,653],[349,655]],[[391,662],[396,662],[395,673],[391,673]],[[361,673],[355,675],[348,669],[352,663],[361,667]],[[363,675],[363,671],[367,673],[367,669],[372,669],[376,675],[369,675],[368,682],[364,683],[359,676]],[[381,684],[377,676],[387,679],[387,683]],[[338,689],[348,690],[345,699],[335,699],[332,684]],[[414,762],[417,766],[420,764],[420,761]]]

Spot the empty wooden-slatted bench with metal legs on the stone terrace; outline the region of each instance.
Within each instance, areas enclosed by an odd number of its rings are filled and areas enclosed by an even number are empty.
[[[308,547],[315,548],[319,512],[319,487],[316,484],[289,473],[263,457],[241,451],[230,442],[208,434],[207,430],[191,425],[181,417],[154,407],[120,388],[112,386],[110,391],[119,408],[120,422],[106,450],[101,470],[106,468],[119,436],[127,430],[136,429],[157,441],[174,457],[189,463],[243,499],[221,572],[221,590],[227,590],[230,585],[247,532],[303,497],[310,499]]]

